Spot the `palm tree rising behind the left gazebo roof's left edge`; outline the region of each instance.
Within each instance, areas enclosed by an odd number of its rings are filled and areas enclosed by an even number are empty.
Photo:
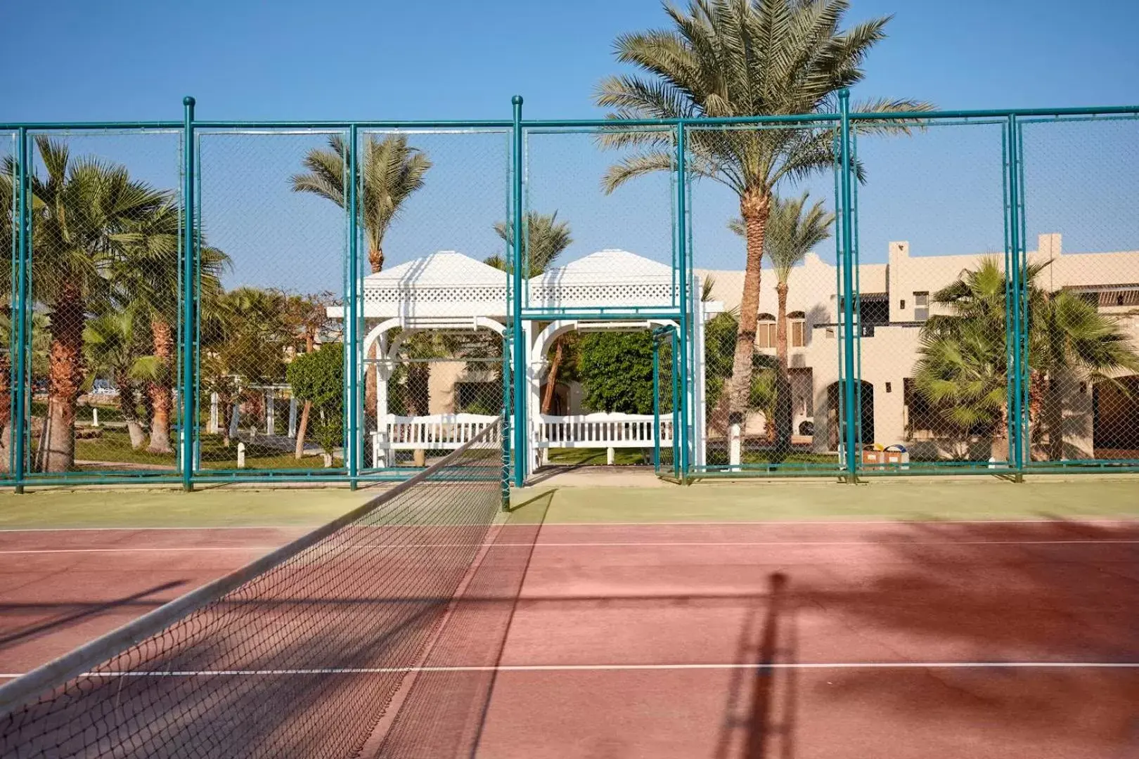
[[[304,158],[305,174],[293,175],[293,190],[312,192],[331,200],[341,208],[347,201],[344,179],[349,146],[344,138],[334,134],[328,138],[328,149],[314,148]],[[431,168],[427,154],[408,145],[403,134],[390,134],[383,139],[369,134],[363,146],[360,171],[360,225],[368,239],[368,265],[371,273],[384,270],[384,234],[399,216],[404,201],[412,192],[423,188],[424,174]],[[368,352],[368,358],[376,358],[376,346]],[[364,414],[376,411],[376,368],[364,374]]]

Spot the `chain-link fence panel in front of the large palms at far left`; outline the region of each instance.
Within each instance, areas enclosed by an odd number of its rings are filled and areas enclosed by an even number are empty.
[[[28,476],[179,468],[179,131],[26,135]]]

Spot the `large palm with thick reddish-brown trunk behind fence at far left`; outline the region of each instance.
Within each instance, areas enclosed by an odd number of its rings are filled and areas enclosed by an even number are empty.
[[[72,160],[63,141],[40,135],[36,146],[46,175],[31,176],[32,255],[35,297],[48,308],[51,333],[48,420],[39,457],[43,471],[55,472],[75,461],[87,314],[106,302],[108,272],[132,228],[169,204],[170,193],[132,180],[123,166],[92,157]]]

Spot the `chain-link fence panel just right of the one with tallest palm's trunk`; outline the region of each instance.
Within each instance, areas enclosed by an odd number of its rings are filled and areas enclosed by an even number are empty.
[[[1006,123],[865,121],[855,134],[859,467],[1005,469]]]

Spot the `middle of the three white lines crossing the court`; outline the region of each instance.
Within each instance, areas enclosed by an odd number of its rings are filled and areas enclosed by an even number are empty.
[[[532,543],[378,543],[371,545],[350,546],[351,548],[459,548],[472,546],[497,546],[506,548],[530,547],[615,547],[615,548],[639,548],[639,547],[672,547],[672,546],[696,546],[696,547],[771,547],[785,545],[789,547],[804,546],[852,546],[852,545],[1136,545],[1139,539],[1108,539],[1108,541],[636,541],[632,543],[563,543],[538,541]],[[14,548],[0,551],[0,555],[7,554],[40,554],[40,553],[169,553],[172,551],[272,551],[280,546],[276,545],[202,545],[202,546],[172,546],[164,548],[139,547],[139,548]]]

